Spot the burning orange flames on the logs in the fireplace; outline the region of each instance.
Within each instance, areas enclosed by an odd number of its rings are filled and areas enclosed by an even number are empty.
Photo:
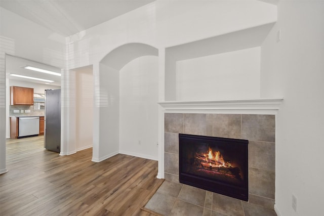
[[[210,167],[232,167],[230,161],[225,161],[219,151],[213,152],[213,150],[209,148],[208,153],[203,155],[204,157],[201,157],[202,155],[198,155],[198,157],[200,160],[205,161],[205,165],[207,163]]]

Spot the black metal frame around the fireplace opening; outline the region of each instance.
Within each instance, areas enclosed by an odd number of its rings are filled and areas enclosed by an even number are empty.
[[[204,142],[210,145],[221,145],[226,143],[226,145],[231,145],[231,147],[239,146],[239,148],[243,151],[241,152],[241,154],[243,154],[243,156],[246,158],[246,161],[244,161],[244,166],[243,166],[244,170],[242,170],[245,173],[244,186],[237,187],[234,185],[225,184],[222,182],[217,182],[207,178],[195,176],[183,171],[181,158],[183,158],[184,155],[182,155],[183,154],[182,148],[186,142],[193,142],[193,141]],[[201,188],[204,190],[212,191],[215,193],[223,194],[236,199],[248,201],[249,200],[248,143],[249,143],[248,140],[179,134],[179,181],[180,183]]]

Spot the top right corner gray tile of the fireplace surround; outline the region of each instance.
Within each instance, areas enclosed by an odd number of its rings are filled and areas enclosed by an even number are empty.
[[[274,115],[242,115],[242,139],[275,142]]]

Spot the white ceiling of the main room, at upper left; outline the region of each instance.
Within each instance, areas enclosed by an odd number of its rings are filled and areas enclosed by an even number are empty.
[[[113,19],[155,0],[1,0],[0,6],[63,36]]]

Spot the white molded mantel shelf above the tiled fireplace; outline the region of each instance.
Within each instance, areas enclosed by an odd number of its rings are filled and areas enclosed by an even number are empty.
[[[164,112],[276,114],[283,98],[260,98],[219,101],[164,101],[158,104]]]

